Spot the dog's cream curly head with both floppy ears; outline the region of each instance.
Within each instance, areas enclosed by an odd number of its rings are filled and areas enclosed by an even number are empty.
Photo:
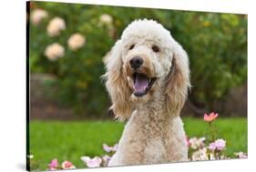
[[[189,87],[189,61],[162,25],[146,19],[132,22],[105,62],[116,116],[129,117],[135,104],[159,94],[166,96],[168,112],[179,114]]]

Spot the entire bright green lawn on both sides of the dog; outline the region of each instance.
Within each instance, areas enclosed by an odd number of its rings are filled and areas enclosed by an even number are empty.
[[[200,118],[184,118],[189,137],[207,137],[208,126]],[[215,122],[218,137],[227,140],[228,155],[247,152],[247,119],[219,118]],[[122,134],[124,124],[115,121],[32,121],[30,123],[30,152],[34,155],[32,169],[45,170],[57,158],[69,160],[76,167],[85,167],[81,156],[102,156],[102,144],[114,145]]]

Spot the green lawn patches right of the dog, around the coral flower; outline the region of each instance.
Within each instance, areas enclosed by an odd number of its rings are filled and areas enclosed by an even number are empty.
[[[199,118],[184,118],[185,131],[189,137],[209,138],[209,124]],[[234,152],[247,152],[247,118],[218,118],[213,125],[216,127],[216,138],[226,140],[225,154],[233,156]]]

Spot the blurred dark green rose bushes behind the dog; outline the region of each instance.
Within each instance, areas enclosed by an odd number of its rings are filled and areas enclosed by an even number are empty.
[[[109,104],[100,81],[105,72],[102,58],[123,29],[138,18],[159,21],[188,52],[193,86],[189,98],[195,104],[218,110],[215,103],[223,100],[230,88],[247,80],[246,15],[33,2],[31,11],[36,8],[46,10],[48,16],[40,25],[30,25],[31,72],[56,75],[58,91],[51,95],[87,116],[106,115],[101,113]],[[101,24],[103,14],[110,15],[113,22]],[[55,16],[65,20],[67,29],[50,37],[46,25]],[[85,35],[87,39],[86,45],[77,51],[67,46],[67,39],[74,33]],[[44,51],[55,42],[66,51],[64,57],[52,62]]]

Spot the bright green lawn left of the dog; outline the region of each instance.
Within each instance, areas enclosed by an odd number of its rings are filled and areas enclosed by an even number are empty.
[[[32,169],[46,169],[53,158],[86,167],[80,157],[105,155],[102,144],[115,145],[122,131],[123,124],[114,121],[33,121],[29,135]]]

